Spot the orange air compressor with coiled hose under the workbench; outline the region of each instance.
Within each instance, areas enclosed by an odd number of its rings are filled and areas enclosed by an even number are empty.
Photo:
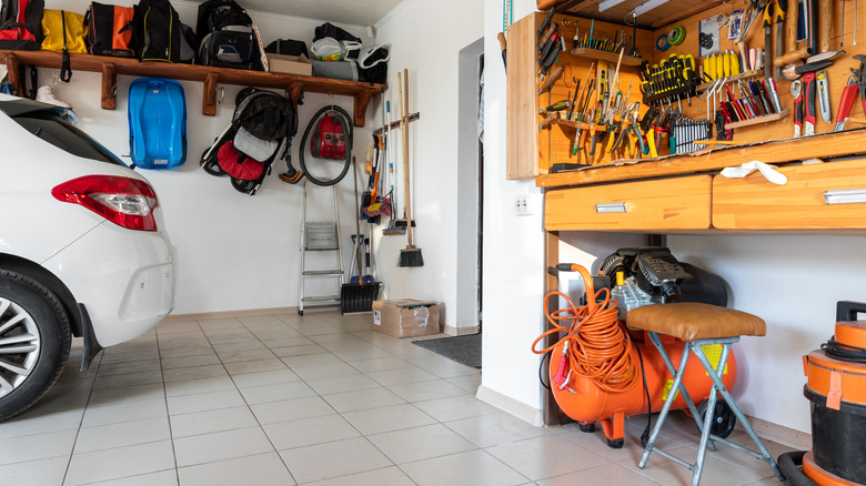
[[[683,285],[692,290],[691,302],[718,305],[724,301],[722,305],[725,305],[727,294],[724,282],[715,275],[677,262],[667,249],[622,249],[605,259],[602,276],[595,279],[585,267],[576,264],[560,264],[557,270],[581,273],[586,292],[586,303],[581,306],[561,292],[547,294],[545,308],[551,308],[550,300],[554,297],[562,297],[566,306],[548,314],[552,328],[533,343],[533,352],[536,354],[550,353],[550,386],[562,412],[576,421],[584,432],[593,432],[595,423],[601,423],[607,445],[620,448],[624,444],[625,418],[661,411],[669,393],[677,394],[672,408],[687,408],[682,394],[671,389],[673,374],[650,337],[643,332],[630,331],[627,321],[624,323],[620,318],[618,307],[624,306],[624,303],[611,298],[612,291],[605,273],[620,273],[621,279],[624,271],[631,273],[631,276],[637,273],[641,288],[653,292],[655,287],[655,295],[641,291],[645,303],[679,298]],[[614,293],[623,287],[623,283],[621,280],[618,285],[613,286]],[[597,292],[596,284],[601,286]],[[698,287],[703,287],[704,292],[694,292]],[[620,295],[620,298],[623,300],[623,296]],[[537,350],[542,340],[554,335],[558,337],[555,344]],[[671,336],[661,336],[659,340],[673,363],[679,363],[685,343]],[[704,346],[704,352],[711,362],[717,363],[722,345]],[[736,375],[736,358],[732,353],[722,377],[728,389],[734,386]],[[699,404],[692,412],[703,416],[713,382],[698,362],[688,362],[683,385],[693,403]],[[724,438],[733,432],[735,425],[733,412],[724,401],[718,401],[712,433]]]

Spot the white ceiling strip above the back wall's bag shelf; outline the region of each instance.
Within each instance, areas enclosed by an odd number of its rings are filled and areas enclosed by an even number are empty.
[[[246,10],[279,13],[334,24],[373,26],[402,0],[244,0]]]

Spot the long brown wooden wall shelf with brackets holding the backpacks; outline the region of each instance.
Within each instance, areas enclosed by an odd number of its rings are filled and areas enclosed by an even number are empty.
[[[61,53],[50,51],[0,51],[9,71],[9,81],[19,89],[19,65],[36,65],[40,68],[61,67]],[[135,59],[110,58],[91,54],[70,54],[70,67],[73,71],[102,73],[102,109],[114,110],[118,74],[135,77],[160,77],[183,81],[204,83],[204,99],[201,112],[205,115],[216,114],[216,85],[235,84],[242,87],[279,88],[286,91],[295,105],[304,91],[312,93],[334,94],[354,98],[354,124],[364,125],[366,107],[374,94],[384,91],[384,84],[345,81],[310,75],[281,74],[263,71],[246,71],[241,69],[213,68],[208,65],[180,64],[169,62],[141,62]]]

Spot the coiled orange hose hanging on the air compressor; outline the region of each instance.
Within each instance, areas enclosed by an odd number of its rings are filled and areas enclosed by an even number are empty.
[[[632,340],[623,324],[616,318],[616,301],[611,300],[611,291],[602,288],[597,293],[590,272],[573,264],[573,272],[580,272],[586,288],[586,302],[583,307],[574,305],[562,292],[551,292],[544,297],[544,308],[551,297],[563,297],[568,306],[547,314],[553,328],[538,336],[532,343],[532,352],[546,354],[560,344],[567,346],[568,361],[565,374],[571,372],[594,379],[600,388],[607,392],[626,392],[638,383],[640,368],[632,357]],[[604,293],[604,300],[596,302]],[[564,325],[560,324],[565,322]],[[537,351],[538,342],[551,334],[565,332],[566,335],[551,347]],[[557,374],[558,375],[558,374]]]

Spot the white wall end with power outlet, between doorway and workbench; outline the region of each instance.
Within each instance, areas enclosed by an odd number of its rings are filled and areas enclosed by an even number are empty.
[[[505,180],[505,70],[496,34],[502,2],[484,1],[484,310],[482,387],[479,396],[541,424],[538,357],[530,351],[541,334],[544,231],[534,180]],[[513,2],[514,20],[535,2]],[[534,194],[534,214],[514,214],[514,198]]]

